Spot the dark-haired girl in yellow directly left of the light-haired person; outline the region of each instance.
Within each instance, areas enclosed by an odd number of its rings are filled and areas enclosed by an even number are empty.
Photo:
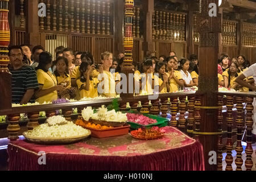
[[[79,88],[80,99],[84,97],[98,97],[98,78],[92,77],[92,67],[88,62],[80,65],[81,77],[76,81]]]

